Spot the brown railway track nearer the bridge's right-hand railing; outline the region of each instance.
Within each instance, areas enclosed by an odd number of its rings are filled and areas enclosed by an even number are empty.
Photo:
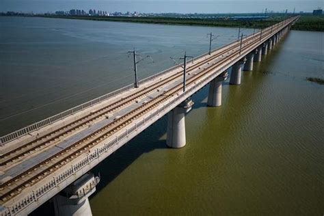
[[[265,36],[267,35],[265,34]],[[254,43],[252,43],[252,45],[253,44]],[[250,46],[251,44],[247,44],[242,47],[242,50],[245,51],[246,49],[249,49]],[[187,85],[194,84],[196,80],[204,77],[205,75],[208,75],[209,72],[213,72],[215,68],[228,61],[230,58],[237,57],[237,55],[239,55],[239,51],[234,51],[234,53],[223,57],[216,64],[212,64],[208,68],[187,79]],[[25,189],[26,187],[34,185],[42,178],[45,178],[52,172],[55,172],[55,170],[58,170],[59,167],[62,167],[69,161],[75,159],[79,154],[83,154],[83,152],[96,146],[96,144],[100,143],[100,141],[107,139],[109,136],[111,136],[113,133],[116,133],[124,126],[131,124],[133,120],[139,118],[140,116],[143,116],[148,111],[154,109],[154,107],[157,107],[161,103],[165,102],[165,100],[172,98],[172,96],[181,91],[182,84],[178,84],[172,87],[170,90],[159,94],[159,96],[157,96],[156,98],[152,98],[141,107],[138,107],[137,109],[126,113],[124,116],[118,118],[118,120],[115,120],[114,122],[103,126],[98,131],[95,131],[91,135],[88,135],[87,137],[77,141],[75,144],[72,144],[61,152],[54,154],[49,159],[46,159],[41,163],[34,165],[26,172],[23,172],[22,174],[19,174],[18,176],[8,180],[6,183],[3,183],[2,185],[0,185],[0,203],[14,197],[18,193],[20,193],[20,191],[23,191],[23,189]]]

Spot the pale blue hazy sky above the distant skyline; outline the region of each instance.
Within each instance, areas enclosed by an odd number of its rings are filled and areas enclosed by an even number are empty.
[[[282,12],[288,10],[293,12],[312,12],[318,7],[324,8],[323,1],[298,1],[298,0],[213,0],[213,1],[131,1],[131,0],[0,0],[0,11],[17,12],[55,12],[58,10],[80,9],[88,11],[90,9],[105,10],[107,12],[176,12],[176,13],[251,13],[262,12],[265,8],[268,11]]]

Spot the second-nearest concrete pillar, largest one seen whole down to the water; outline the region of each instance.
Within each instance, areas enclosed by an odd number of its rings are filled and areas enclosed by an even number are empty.
[[[185,100],[167,113],[167,146],[182,148],[186,145],[185,114],[191,110],[192,100]]]

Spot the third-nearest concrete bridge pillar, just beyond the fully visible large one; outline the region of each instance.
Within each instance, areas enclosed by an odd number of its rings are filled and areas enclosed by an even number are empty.
[[[208,101],[207,105],[209,107],[220,107],[221,106],[221,86],[222,82],[226,80],[228,77],[228,72],[224,71],[213,79],[209,84],[209,93],[208,93]]]

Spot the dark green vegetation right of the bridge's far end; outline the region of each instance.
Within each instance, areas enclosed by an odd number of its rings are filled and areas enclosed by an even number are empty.
[[[293,25],[294,30],[324,31],[324,15],[302,15]]]

